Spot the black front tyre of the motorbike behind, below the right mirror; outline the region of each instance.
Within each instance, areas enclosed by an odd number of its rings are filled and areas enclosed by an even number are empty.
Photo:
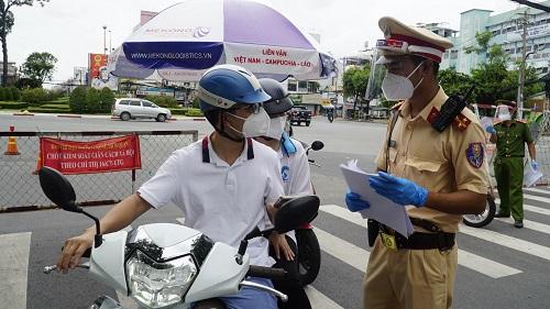
[[[315,282],[321,267],[321,249],[314,230],[296,230],[298,246],[298,279],[302,286]]]

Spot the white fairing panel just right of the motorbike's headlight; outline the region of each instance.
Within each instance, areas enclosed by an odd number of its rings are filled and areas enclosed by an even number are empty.
[[[237,294],[250,265],[248,254],[243,256],[242,265],[239,265],[235,261],[237,252],[235,247],[217,242],[187,291],[185,302]]]

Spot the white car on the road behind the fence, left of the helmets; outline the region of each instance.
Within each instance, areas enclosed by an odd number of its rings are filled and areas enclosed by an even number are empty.
[[[119,117],[123,121],[138,118],[148,118],[163,122],[166,121],[166,119],[172,118],[172,112],[168,109],[161,108],[144,99],[122,98],[117,99],[114,102],[112,107],[112,115]]]

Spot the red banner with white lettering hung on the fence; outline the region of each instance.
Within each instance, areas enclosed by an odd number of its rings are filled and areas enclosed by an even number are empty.
[[[40,166],[48,166],[63,174],[94,174],[141,168],[138,135],[73,142],[40,139]]]

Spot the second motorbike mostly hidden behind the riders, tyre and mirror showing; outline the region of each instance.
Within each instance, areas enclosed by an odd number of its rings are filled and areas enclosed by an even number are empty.
[[[315,141],[311,145],[304,142],[301,144],[307,155],[309,151],[320,151],[324,147],[321,141]],[[308,158],[308,162],[320,167],[312,158]],[[298,279],[301,285],[307,286],[315,282],[321,268],[321,247],[310,222],[296,229],[296,245],[298,246]]]

